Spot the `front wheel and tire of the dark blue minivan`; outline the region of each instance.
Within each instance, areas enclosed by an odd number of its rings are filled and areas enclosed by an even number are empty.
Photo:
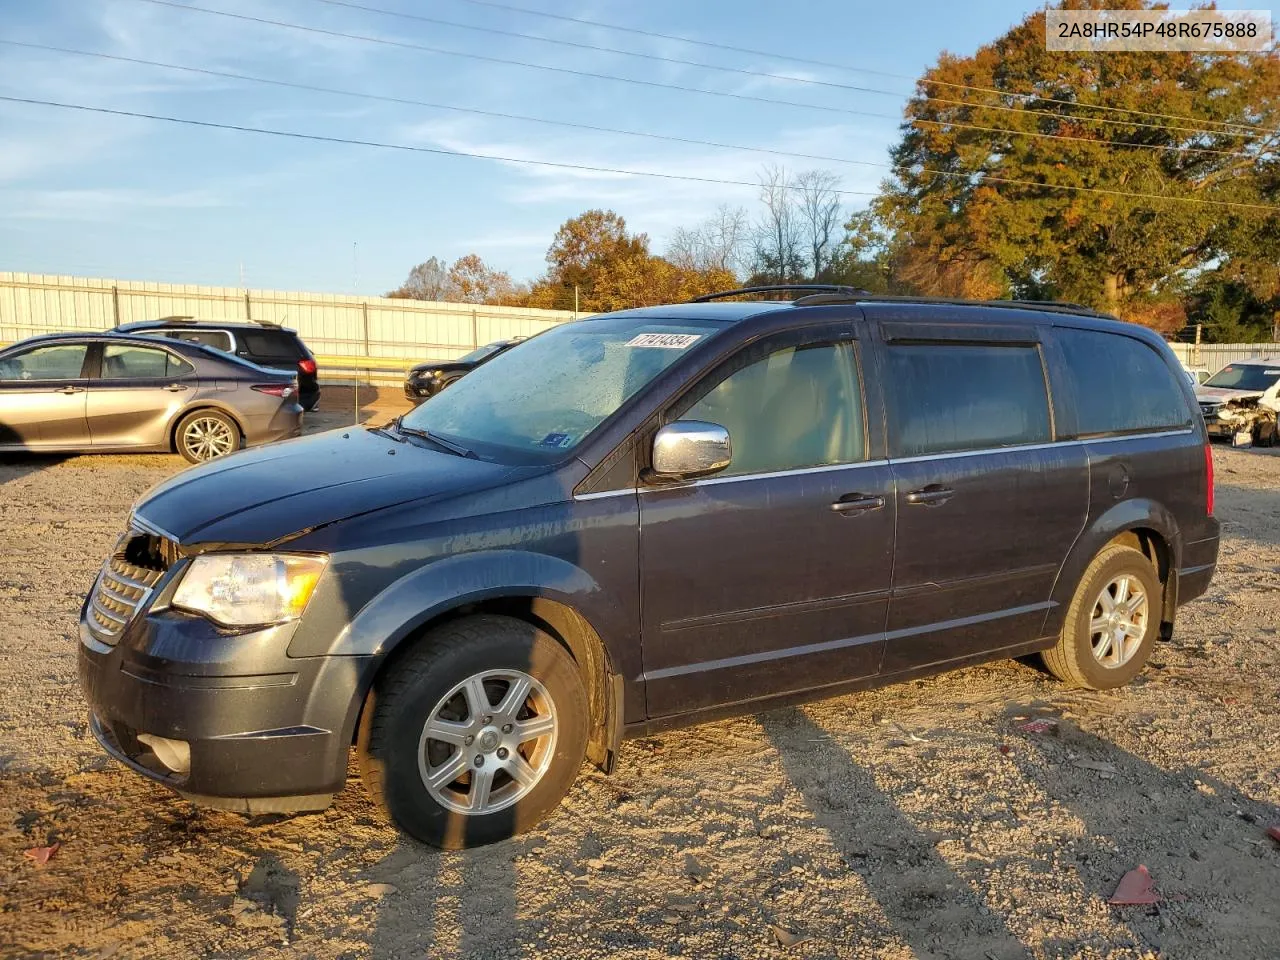
[[[590,708],[577,664],[511,617],[447,623],[374,684],[361,778],[403,831],[445,850],[536,826],[577,777]]]

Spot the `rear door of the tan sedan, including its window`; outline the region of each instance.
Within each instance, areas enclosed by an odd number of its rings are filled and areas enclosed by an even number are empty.
[[[102,344],[101,372],[88,390],[95,447],[165,447],[169,425],[198,387],[196,369],[161,347]]]

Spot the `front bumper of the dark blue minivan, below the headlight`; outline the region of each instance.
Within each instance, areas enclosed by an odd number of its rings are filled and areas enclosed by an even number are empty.
[[[225,634],[172,611],[140,616],[106,645],[86,611],[81,687],[90,728],[115,759],[242,813],[324,809],[342,788],[372,658],[289,658],[292,625]],[[187,769],[156,737],[189,750]]]

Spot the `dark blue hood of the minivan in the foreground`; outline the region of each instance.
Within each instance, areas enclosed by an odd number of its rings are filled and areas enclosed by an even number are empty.
[[[273,544],[339,520],[500,484],[511,467],[352,426],[236,453],[152,488],[138,520],[183,545]]]

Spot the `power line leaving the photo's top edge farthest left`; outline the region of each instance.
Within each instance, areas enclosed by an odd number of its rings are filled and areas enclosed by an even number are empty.
[[[445,50],[443,47],[426,46],[425,44],[412,44],[412,42],[406,41],[406,40],[392,40],[389,37],[375,37],[375,36],[369,36],[366,33],[344,33],[342,31],[325,29],[324,27],[311,27],[311,26],[306,26],[306,24],[301,24],[301,23],[291,23],[288,20],[273,20],[273,19],[268,19],[265,17],[251,17],[250,14],[230,13],[228,10],[214,10],[214,9],[210,9],[207,6],[195,6],[192,4],[177,3],[175,0],[138,0],[138,3],[155,4],[157,6],[170,6],[170,8],[174,8],[177,10],[189,10],[189,12],[195,12],[195,13],[210,14],[210,15],[214,15],[214,17],[225,17],[225,18],[229,18],[229,19],[244,20],[247,23],[257,23],[257,24],[269,26],[269,27],[284,27],[285,29],[297,29],[297,31],[302,31],[302,32],[306,32],[306,33],[316,33],[316,35],[320,35],[320,36],[335,37],[335,38],[340,38],[340,40],[356,40],[356,41],[365,42],[365,44],[379,44],[379,45],[383,45],[383,46],[398,47],[398,49],[402,49],[402,50],[417,50],[417,51],[422,51],[422,52],[428,52],[428,54],[440,54],[440,55],[444,55],[444,56],[457,56],[457,58],[462,58],[462,59],[467,59],[467,60],[480,60],[480,61],[484,61],[484,63],[497,63],[497,64],[503,64],[506,67],[524,67],[524,68],[532,69],[532,70],[547,70],[547,72],[550,72],[550,73],[568,74],[568,76],[572,76],[572,77],[582,77],[582,78],[588,78],[588,79],[607,79],[607,81],[618,82],[618,83],[632,83],[632,84],[641,86],[641,87],[652,87],[652,88],[657,88],[657,90],[673,90],[673,91],[678,91],[678,92],[682,92],[682,93],[701,93],[701,95],[705,95],[705,96],[726,97],[726,99],[730,99],[730,100],[742,100],[742,101],[755,102],[755,104],[771,104],[773,106],[788,106],[788,108],[796,108],[796,109],[803,109],[803,110],[822,110],[823,113],[847,114],[847,115],[851,115],[851,116],[870,116],[870,118],[882,119],[882,120],[893,120],[895,123],[901,123],[904,120],[904,118],[896,116],[893,114],[878,114],[878,113],[872,113],[869,110],[851,110],[849,108],[842,108],[842,106],[826,106],[826,105],[822,105],[822,104],[804,104],[804,102],[797,102],[795,100],[776,100],[776,99],[772,99],[772,97],[753,96],[750,93],[732,93],[732,92],[721,91],[721,90],[707,90],[704,87],[687,87],[687,86],[678,84],[678,83],[663,83],[660,81],[639,79],[639,78],[635,78],[635,77],[620,77],[620,76],[612,74],[612,73],[593,73],[590,70],[576,70],[576,69],[572,69],[572,68],[568,68],[568,67],[552,67],[552,65],[548,65],[548,64],[529,63],[526,60],[513,60],[513,59],[509,59],[509,58],[489,56],[489,55],[485,55],[485,54],[470,54],[470,52],[462,52],[462,51],[458,51],[458,50]],[[918,122],[918,123],[925,123],[925,124],[934,124],[934,125],[957,127],[957,128],[973,127],[973,129],[997,131],[997,132],[1009,133],[1011,136],[1018,136],[1018,137],[1033,137],[1033,138],[1046,138],[1046,140],[1075,140],[1075,141],[1087,142],[1087,143],[1101,143],[1102,146],[1124,146],[1124,147],[1133,147],[1133,148],[1137,148],[1137,150],[1162,150],[1162,151],[1185,152],[1185,154],[1210,154],[1210,155],[1216,155],[1216,156],[1236,156],[1236,157],[1245,157],[1245,159],[1249,157],[1248,154],[1239,154],[1239,152],[1233,152],[1233,151],[1228,151],[1228,150],[1212,150],[1212,148],[1208,148],[1208,147],[1184,147],[1184,146],[1176,146],[1176,145],[1169,145],[1169,143],[1111,143],[1111,142],[1102,142],[1102,141],[1094,140],[1092,137],[1073,137],[1073,136],[1068,136],[1068,134],[1038,133],[1038,132],[1030,132],[1030,131],[1010,131],[1010,129],[1001,129],[1001,128],[993,128],[993,127],[975,127],[973,124],[954,123],[954,122],[943,123],[943,122],[940,122],[940,120],[925,120],[925,119],[918,119],[918,118],[911,118],[911,116],[908,116],[906,120],[909,120],[909,122]]]

